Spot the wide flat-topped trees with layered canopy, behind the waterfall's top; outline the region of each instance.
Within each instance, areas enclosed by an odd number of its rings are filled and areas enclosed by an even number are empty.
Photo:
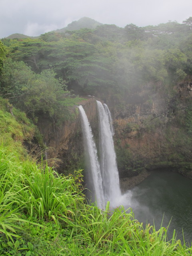
[[[57,42],[27,40],[11,48],[14,47],[17,47],[16,50],[10,52],[14,60],[23,60],[36,72],[52,68],[57,77],[66,80],[72,87],[112,83],[108,70],[110,60],[101,58],[93,44],[68,39]]]

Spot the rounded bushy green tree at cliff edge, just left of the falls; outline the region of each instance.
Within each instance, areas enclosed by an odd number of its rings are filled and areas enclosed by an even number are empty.
[[[43,112],[55,120],[63,116],[64,100],[69,92],[55,75],[51,69],[44,70],[41,74],[34,74],[32,80],[22,88],[20,101],[28,115],[34,116],[35,113]]]

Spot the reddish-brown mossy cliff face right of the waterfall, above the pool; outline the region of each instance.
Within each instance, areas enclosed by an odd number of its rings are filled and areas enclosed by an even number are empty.
[[[121,177],[168,169],[192,178],[191,100],[189,83],[178,85],[171,96],[148,85],[127,96],[123,111],[116,104],[114,140]]]

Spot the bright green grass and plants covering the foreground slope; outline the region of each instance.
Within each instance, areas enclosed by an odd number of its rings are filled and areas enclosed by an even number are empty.
[[[167,228],[143,227],[131,209],[86,204],[81,172],[62,176],[36,164],[22,146],[34,125],[1,103],[0,255],[191,255],[175,234],[168,240]]]

